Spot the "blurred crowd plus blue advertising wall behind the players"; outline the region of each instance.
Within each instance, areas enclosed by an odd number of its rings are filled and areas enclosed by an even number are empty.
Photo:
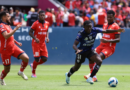
[[[102,28],[107,22],[108,10],[114,10],[115,22],[125,28],[126,32],[121,34],[121,41],[117,44],[115,53],[103,63],[130,64],[130,0],[0,0],[0,12],[9,11],[12,28],[22,24],[14,37],[18,42],[22,42],[21,49],[28,54],[30,62],[34,58],[32,38],[28,32],[33,22],[38,20],[40,10],[46,12],[46,21],[50,23],[50,42],[47,44],[49,58],[46,64],[73,64],[75,51],[72,45],[84,21],[91,20],[93,26]],[[95,47],[100,44],[101,38],[102,34],[98,34]],[[20,64],[16,58],[12,57],[11,60],[12,64]]]

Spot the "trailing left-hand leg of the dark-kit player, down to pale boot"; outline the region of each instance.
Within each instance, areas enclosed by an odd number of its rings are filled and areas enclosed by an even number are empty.
[[[70,76],[79,70],[81,64],[85,61],[85,57],[81,54],[77,54],[76,55],[76,59],[75,59],[75,65],[73,67],[70,68],[70,71],[67,72],[66,75],[66,83],[69,84],[70,82]]]

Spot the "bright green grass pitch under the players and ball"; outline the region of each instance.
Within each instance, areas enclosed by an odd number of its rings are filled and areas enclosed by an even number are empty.
[[[102,65],[97,77],[98,82],[90,85],[83,78],[89,73],[88,65],[82,65],[71,77],[70,84],[65,82],[65,72],[73,65],[40,65],[37,68],[37,78],[31,78],[31,68],[28,66],[25,74],[28,81],[17,75],[20,65],[12,65],[11,71],[4,79],[6,86],[0,85],[0,90],[130,90],[130,65]],[[0,65],[0,72],[3,66]],[[119,81],[116,88],[108,86],[108,79],[116,77]]]

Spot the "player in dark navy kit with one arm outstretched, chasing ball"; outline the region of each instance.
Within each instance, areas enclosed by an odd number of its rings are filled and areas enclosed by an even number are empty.
[[[87,82],[93,84],[94,82],[92,78],[98,72],[102,64],[101,57],[93,50],[93,45],[97,33],[112,33],[112,32],[124,31],[124,29],[101,30],[95,27],[92,28],[92,23],[90,21],[85,21],[83,26],[84,26],[83,30],[79,31],[77,38],[73,44],[73,48],[76,51],[76,59],[75,59],[75,65],[70,69],[69,72],[65,74],[67,84],[70,83],[70,76],[80,68],[81,64],[85,61],[85,58],[88,58],[90,61],[96,62],[96,65],[90,77],[87,79]],[[79,43],[80,46],[79,48],[77,48],[77,45]]]

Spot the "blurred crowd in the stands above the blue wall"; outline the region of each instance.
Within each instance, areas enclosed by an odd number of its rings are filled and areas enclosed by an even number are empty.
[[[85,20],[102,27],[108,10],[115,11],[120,27],[130,27],[130,0],[0,0],[0,12],[10,12],[12,26],[31,26],[40,10],[53,27],[81,27]]]

